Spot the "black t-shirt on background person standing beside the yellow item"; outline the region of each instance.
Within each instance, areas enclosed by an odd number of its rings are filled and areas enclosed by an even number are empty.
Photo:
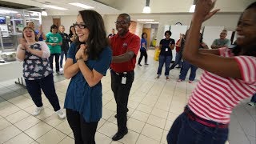
[[[169,45],[175,45],[175,40],[170,38],[170,39],[162,39],[160,41],[160,45],[162,45],[161,47],[161,52],[160,55],[164,55],[164,56],[172,56],[172,51],[170,49]]]

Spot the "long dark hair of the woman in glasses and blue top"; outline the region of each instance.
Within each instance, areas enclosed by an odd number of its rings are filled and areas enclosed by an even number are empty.
[[[102,50],[106,48],[106,46],[109,46],[102,16],[94,10],[82,10],[79,11],[79,14],[86,25],[86,29],[90,31],[86,42],[87,53],[89,54],[89,58],[97,59]],[[78,51],[80,45],[85,42],[79,42],[79,38],[76,38],[75,43]]]

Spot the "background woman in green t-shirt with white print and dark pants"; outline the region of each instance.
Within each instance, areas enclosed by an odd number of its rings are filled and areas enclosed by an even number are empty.
[[[50,32],[46,34],[46,44],[50,48],[50,67],[54,70],[54,57],[55,57],[55,68],[57,74],[62,74],[59,72],[59,56],[62,52],[62,36],[58,34],[58,26],[50,26]]]

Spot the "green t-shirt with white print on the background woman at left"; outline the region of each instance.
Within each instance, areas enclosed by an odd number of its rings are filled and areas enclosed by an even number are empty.
[[[48,34],[46,34],[46,42],[50,42],[50,43],[59,43],[62,42],[62,36],[61,34],[52,34],[51,32],[49,32]],[[62,47],[60,45],[56,45],[56,46],[51,46],[51,45],[47,45],[50,49],[50,54],[61,54],[62,52]]]

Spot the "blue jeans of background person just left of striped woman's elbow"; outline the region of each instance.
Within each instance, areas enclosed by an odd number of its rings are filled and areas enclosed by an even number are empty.
[[[191,68],[191,70],[190,70]],[[194,66],[190,64],[189,62],[182,62],[182,69],[181,69],[181,74],[179,75],[179,79],[185,80],[186,79],[186,74],[190,70],[190,81],[194,81],[194,78],[196,76],[196,72],[198,70],[197,66]]]

